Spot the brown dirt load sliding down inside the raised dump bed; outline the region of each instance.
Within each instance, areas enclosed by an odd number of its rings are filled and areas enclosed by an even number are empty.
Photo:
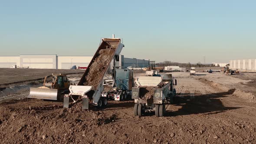
[[[117,46],[110,46],[98,52],[98,57],[87,69],[89,72],[85,77],[84,85],[92,86],[92,90],[97,89],[99,82],[105,74],[105,70],[108,69],[108,64],[112,60],[116,47]]]

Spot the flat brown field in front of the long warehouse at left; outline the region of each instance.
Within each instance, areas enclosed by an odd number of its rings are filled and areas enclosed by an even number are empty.
[[[85,72],[82,69],[7,69],[0,68],[0,85],[31,79],[44,78],[52,74]]]

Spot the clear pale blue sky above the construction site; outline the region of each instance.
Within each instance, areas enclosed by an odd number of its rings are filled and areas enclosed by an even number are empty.
[[[100,38],[161,62],[255,59],[253,0],[0,0],[0,56],[92,56]]]

